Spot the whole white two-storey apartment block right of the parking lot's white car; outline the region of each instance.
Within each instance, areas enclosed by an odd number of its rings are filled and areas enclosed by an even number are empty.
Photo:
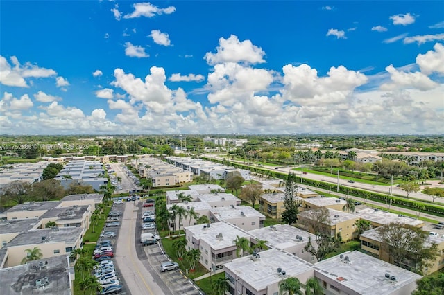
[[[246,231],[228,222],[185,226],[187,250],[200,250],[200,264],[214,272],[220,272],[224,263],[237,258],[234,244],[237,237],[250,240]]]

